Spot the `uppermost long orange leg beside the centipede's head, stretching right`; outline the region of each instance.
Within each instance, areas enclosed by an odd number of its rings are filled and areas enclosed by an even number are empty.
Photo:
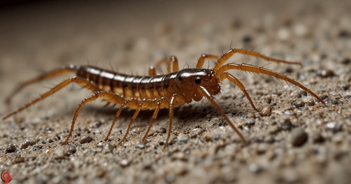
[[[277,62],[277,63],[285,63],[285,64],[296,64],[296,65],[300,65],[302,66],[302,64],[300,62],[289,62],[289,61],[285,61],[282,59],[274,59],[271,57],[267,57],[265,55],[262,55],[258,52],[254,52],[254,51],[249,51],[249,50],[243,50],[243,49],[230,49],[229,51],[227,51],[226,53],[224,53],[217,61],[216,65],[214,65],[213,67],[213,71],[216,72],[218,70],[218,68],[220,66],[223,65],[223,63],[225,61],[227,61],[234,53],[241,53],[241,54],[245,54],[245,55],[250,55],[250,56],[256,56],[256,57],[260,57],[263,59],[266,59],[267,61],[273,61],[273,62]]]

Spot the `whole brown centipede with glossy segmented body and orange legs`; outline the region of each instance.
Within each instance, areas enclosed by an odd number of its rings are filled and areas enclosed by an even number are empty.
[[[323,100],[320,99],[316,94],[314,94],[310,89],[306,88],[304,85],[294,81],[292,78],[279,74],[277,72],[273,72],[271,70],[265,69],[263,67],[253,66],[249,64],[224,64],[234,53],[242,53],[251,56],[256,56],[260,58],[264,58],[269,61],[278,62],[278,63],[286,63],[286,64],[297,64],[301,65],[298,62],[287,62],[284,60],[270,58],[264,55],[261,55],[257,52],[241,50],[241,49],[230,49],[226,53],[224,53],[220,58],[218,58],[217,63],[214,65],[212,69],[204,69],[202,68],[205,59],[217,59],[215,55],[201,55],[198,59],[198,63],[196,68],[188,68],[179,70],[178,60],[175,56],[172,56],[168,61],[168,73],[164,75],[157,75],[155,67],[150,67],[149,76],[133,76],[121,74],[111,70],[105,70],[102,68],[98,68],[96,66],[89,65],[68,65],[62,66],[61,68],[55,69],[51,72],[48,72],[44,75],[41,75],[32,80],[21,83],[17,88],[13,90],[11,95],[7,98],[6,102],[9,103],[12,97],[26,87],[29,84],[34,82],[44,80],[46,78],[51,78],[59,75],[66,74],[68,72],[75,72],[76,76],[70,77],[69,79],[61,82],[56,85],[54,88],[49,90],[47,93],[41,95],[38,99],[33,100],[30,103],[27,103],[25,106],[19,108],[18,110],[8,114],[3,119],[6,119],[14,114],[21,112],[22,110],[28,108],[32,104],[37,103],[38,101],[46,98],[47,96],[55,93],[66,85],[74,82],[81,85],[84,88],[91,90],[94,94],[86,97],[79,104],[77,108],[72,123],[71,130],[65,142],[63,144],[67,144],[70,137],[72,137],[75,121],[78,118],[78,115],[82,109],[82,107],[92,102],[96,99],[106,100],[108,103],[119,104],[120,107],[117,110],[115,118],[112,122],[110,131],[105,138],[105,141],[111,135],[112,128],[115,122],[118,120],[118,117],[121,113],[122,108],[129,107],[135,109],[135,113],[132,116],[132,119],[128,125],[127,132],[122,138],[122,140],[118,143],[120,145],[127,137],[128,132],[132,126],[133,121],[138,116],[140,110],[143,109],[152,109],[154,110],[152,119],[150,121],[150,125],[146,131],[146,134],[143,138],[145,141],[148,132],[150,131],[154,120],[157,118],[157,114],[159,109],[169,108],[169,128],[168,135],[165,146],[167,146],[167,142],[171,135],[172,128],[172,119],[173,119],[173,109],[175,107],[181,106],[185,103],[191,103],[192,100],[200,101],[205,97],[208,99],[212,105],[218,110],[218,112],[223,116],[223,118],[229,123],[229,125],[236,131],[239,137],[246,142],[244,135],[240,133],[240,131],[234,126],[234,124],[227,118],[223,110],[218,106],[218,104],[214,101],[213,96],[218,95],[220,93],[220,82],[228,79],[230,82],[235,83],[238,87],[243,91],[247,99],[249,100],[251,106],[254,110],[258,110],[254,106],[254,103],[251,100],[249,93],[247,93],[244,85],[232,74],[226,72],[227,70],[241,70],[241,71],[249,71],[254,73],[261,73],[268,76],[273,76],[279,79],[282,79],[286,82],[296,85],[297,87],[305,90],[307,93],[311,94],[318,101],[324,104]],[[223,65],[224,64],[224,65]],[[172,67],[173,66],[173,71]]]

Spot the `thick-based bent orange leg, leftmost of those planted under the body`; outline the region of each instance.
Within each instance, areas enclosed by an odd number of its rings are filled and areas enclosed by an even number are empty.
[[[77,121],[78,115],[80,113],[80,111],[82,110],[83,106],[86,103],[92,102],[96,99],[103,99],[112,103],[123,103],[125,101],[125,99],[121,96],[119,96],[118,94],[112,93],[110,91],[98,91],[95,92],[95,94],[85,98],[84,100],[82,100],[82,102],[79,103],[79,106],[77,108],[77,110],[74,113],[73,119],[72,119],[72,123],[71,123],[71,130],[69,131],[68,137],[65,140],[64,143],[62,143],[62,145],[65,145],[68,143],[69,138],[72,137],[72,133],[73,133],[73,129],[74,129],[74,124],[75,121]]]

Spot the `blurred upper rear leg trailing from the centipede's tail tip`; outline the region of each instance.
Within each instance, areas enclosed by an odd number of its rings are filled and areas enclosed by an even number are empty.
[[[64,75],[67,74],[68,72],[73,72],[77,71],[77,67],[75,65],[69,65],[69,66],[62,66],[61,68],[55,69],[53,71],[47,72],[46,74],[40,75],[39,77],[33,78],[31,80],[25,81],[20,83],[16,88],[14,88],[10,95],[6,98],[5,102],[9,104],[12,100],[12,97],[14,97],[18,92],[20,92],[23,88],[25,88],[29,84],[33,84],[35,82],[47,79],[47,78],[52,78],[56,77],[59,75]]]

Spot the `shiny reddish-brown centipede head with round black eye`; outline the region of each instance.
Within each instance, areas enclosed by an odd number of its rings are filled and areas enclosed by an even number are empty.
[[[206,88],[211,95],[220,93],[220,85],[213,70],[203,68],[190,68],[178,72],[176,78],[178,86],[186,91],[191,91],[192,99],[199,101],[203,95],[200,86]]]

